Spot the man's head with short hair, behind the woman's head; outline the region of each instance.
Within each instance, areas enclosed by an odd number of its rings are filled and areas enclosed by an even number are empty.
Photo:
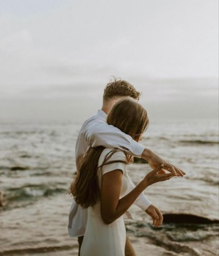
[[[118,100],[126,97],[139,100],[140,92],[129,82],[115,78],[104,89],[102,110],[108,113]]]

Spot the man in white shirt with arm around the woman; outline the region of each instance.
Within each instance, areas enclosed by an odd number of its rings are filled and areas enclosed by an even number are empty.
[[[78,169],[79,163],[89,146],[97,147],[102,145],[107,148],[120,148],[126,150],[130,155],[144,158],[148,160],[149,165],[153,169],[157,168],[158,165],[163,164],[163,169],[172,172],[175,176],[183,176],[185,173],[182,170],[163,160],[150,149],[147,149],[143,145],[137,143],[132,139],[132,137],[124,134],[118,128],[106,123],[105,120],[107,114],[112,106],[118,100],[126,97],[139,100],[140,92],[136,91],[133,85],[124,80],[115,79],[113,82],[107,84],[104,89],[103,105],[101,110],[98,110],[96,116],[92,116],[90,119],[86,120],[79,132],[75,150],[76,168]],[[165,172],[164,170],[162,171]],[[133,189],[134,187],[134,183],[130,180],[130,188]],[[155,227],[162,224],[163,217],[160,210],[152,205],[143,193],[137,198],[134,204],[139,206],[152,217]],[[125,217],[132,218],[129,212],[126,213]],[[82,209],[75,201],[73,201],[69,213],[68,232],[71,237],[78,237],[79,254],[86,223],[87,209]],[[125,255],[135,255],[128,237],[126,237]]]

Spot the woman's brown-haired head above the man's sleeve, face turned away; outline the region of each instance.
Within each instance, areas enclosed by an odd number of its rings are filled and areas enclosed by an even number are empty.
[[[107,124],[113,125],[138,141],[149,123],[147,111],[131,98],[121,99],[113,105]]]

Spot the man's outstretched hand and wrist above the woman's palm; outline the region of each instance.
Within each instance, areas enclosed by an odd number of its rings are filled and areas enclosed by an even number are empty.
[[[166,160],[159,157],[156,153],[151,151],[150,149],[145,149],[142,153],[142,158],[148,160],[149,165],[152,169],[156,169],[159,165],[163,164],[164,167],[159,173],[165,173],[165,170],[171,172],[174,176],[183,176],[186,173],[181,169],[177,168],[176,166],[170,164]]]

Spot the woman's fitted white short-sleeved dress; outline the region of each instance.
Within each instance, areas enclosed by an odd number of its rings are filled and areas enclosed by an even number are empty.
[[[105,148],[100,156],[98,166],[103,163],[104,157],[112,149]],[[125,154],[118,151],[108,161],[124,160]],[[104,165],[102,175],[107,172],[120,169],[123,171],[123,182],[120,198],[129,192],[129,177],[126,171],[126,164],[112,163]],[[102,175],[99,171],[98,179],[101,188]],[[81,246],[80,256],[125,256],[126,228],[123,215],[113,223],[107,225],[103,222],[100,213],[100,202],[88,208],[88,218],[84,239]]]

